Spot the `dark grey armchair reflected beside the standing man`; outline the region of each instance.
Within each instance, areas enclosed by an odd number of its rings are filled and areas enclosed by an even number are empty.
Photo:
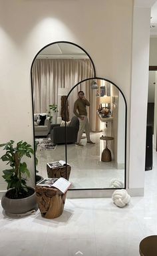
[[[73,116],[71,122],[67,126],[67,143],[77,142],[77,134],[79,130],[79,120],[77,116]],[[61,124],[52,124],[51,141],[53,144],[65,144],[65,126]]]

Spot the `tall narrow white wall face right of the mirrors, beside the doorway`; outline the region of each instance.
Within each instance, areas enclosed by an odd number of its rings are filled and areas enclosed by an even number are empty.
[[[144,187],[150,9],[134,8],[129,188]]]

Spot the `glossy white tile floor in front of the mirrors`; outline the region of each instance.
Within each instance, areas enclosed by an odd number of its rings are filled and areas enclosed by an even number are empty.
[[[39,211],[13,219],[1,209],[0,255],[138,256],[140,241],[157,234],[156,152],[145,180],[144,197],[123,209],[111,199],[67,199],[57,219],[44,219]]]

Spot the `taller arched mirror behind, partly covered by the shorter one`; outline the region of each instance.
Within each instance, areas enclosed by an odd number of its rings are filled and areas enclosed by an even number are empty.
[[[63,106],[71,88],[93,76],[92,59],[74,43],[51,43],[35,56],[31,67],[31,84],[33,130],[37,146],[35,155],[38,159],[36,169],[39,172],[36,181],[39,176],[47,177],[47,163],[65,160],[65,144],[54,143],[51,130],[54,126],[62,126],[65,120]],[[72,114],[72,104],[73,101],[69,100],[68,119]]]

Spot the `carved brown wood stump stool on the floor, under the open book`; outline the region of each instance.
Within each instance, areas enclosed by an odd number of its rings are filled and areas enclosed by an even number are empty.
[[[63,194],[57,188],[47,186],[35,187],[37,203],[41,215],[47,219],[54,219],[62,215],[67,193]]]

